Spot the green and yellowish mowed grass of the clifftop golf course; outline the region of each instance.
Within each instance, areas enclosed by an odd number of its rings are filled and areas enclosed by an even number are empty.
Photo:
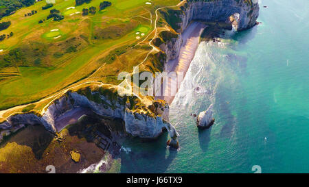
[[[47,10],[41,9],[45,1],[39,1],[1,20],[11,21],[12,25],[0,34],[14,32],[14,36],[0,42],[0,49],[3,50],[0,55],[5,55],[17,48],[27,49],[32,46],[33,42],[42,44],[40,46],[43,46],[45,50],[43,55],[41,53],[28,54],[25,50],[26,57],[34,60],[34,63],[30,65],[0,68],[0,110],[43,99],[89,77],[98,68],[100,68],[100,73],[97,74],[100,76],[91,77],[92,81],[115,84],[119,72],[133,71],[133,66],[146,57],[149,49],[137,50],[131,47],[152,32],[155,8],[179,3],[176,0],[152,0],[149,1],[152,5],[146,5],[148,2],[146,0],[109,0],[112,6],[99,11],[102,1],[92,0],[91,3],[84,3],[69,10],[67,8],[74,7],[75,1],[56,0],[54,7]],[[83,8],[91,6],[97,8],[94,15],[73,14],[82,12]],[[52,19],[46,20],[49,11],[54,8],[60,10],[65,19],[60,22],[52,21]],[[38,13],[24,16],[32,10],[37,10]],[[152,12],[152,24],[150,24],[149,12]],[[38,24],[38,21],[43,19],[45,21]],[[53,29],[57,31],[51,32]],[[115,30],[117,34],[113,36]],[[100,32],[104,32],[104,37],[98,35]],[[144,35],[139,34],[140,39],[137,40],[136,32],[142,32]],[[71,42],[72,38],[77,38],[76,42]],[[116,53],[115,56],[118,57],[120,53],[117,49],[121,47],[126,48],[122,49],[124,53],[141,55],[135,55],[136,58],[124,58],[121,62],[102,60],[111,53]]]

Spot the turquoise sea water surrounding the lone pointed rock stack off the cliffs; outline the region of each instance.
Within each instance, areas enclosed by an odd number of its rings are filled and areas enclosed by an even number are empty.
[[[308,20],[307,0],[260,1],[261,25],[220,45],[201,42],[189,69],[201,89],[170,107],[181,148],[166,148],[166,133],[127,140],[121,172],[253,173],[260,165],[262,173],[309,173]],[[200,132],[190,113],[210,103],[216,123]]]

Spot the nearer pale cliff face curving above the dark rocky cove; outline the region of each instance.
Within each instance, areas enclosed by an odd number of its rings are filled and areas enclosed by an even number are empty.
[[[85,108],[101,116],[122,119],[126,132],[132,136],[157,138],[163,129],[167,129],[172,138],[179,136],[176,129],[168,123],[168,104],[155,101],[152,105],[146,106],[137,103],[137,98],[131,97],[130,102],[127,99],[128,97],[111,99],[99,91],[87,92],[87,94],[68,92],[64,97],[54,101],[43,116],[36,114],[10,116],[7,121],[0,124],[0,132],[2,132],[0,142],[3,136],[16,132],[16,129],[24,125],[42,124],[50,132],[56,132],[57,119],[76,108]],[[139,110],[139,107],[144,108],[144,111]]]

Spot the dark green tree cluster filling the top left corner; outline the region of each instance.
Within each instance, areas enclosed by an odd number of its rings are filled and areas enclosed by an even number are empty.
[[[33,5],[36,0],[1,0],[0,1],[0,18],[14,14],[16,10],[24,6]]]

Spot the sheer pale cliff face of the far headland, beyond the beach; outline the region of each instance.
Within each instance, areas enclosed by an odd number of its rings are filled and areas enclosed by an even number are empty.
[[[248,29],[256,24],[259,16],[259,4],[251,0],[191,0],[184,5],[181,17],[181,29],[185,29],[192,20],[201,21],[229,21],[229,17],[236,15],[238,21],[236,29],[241,31]]]

